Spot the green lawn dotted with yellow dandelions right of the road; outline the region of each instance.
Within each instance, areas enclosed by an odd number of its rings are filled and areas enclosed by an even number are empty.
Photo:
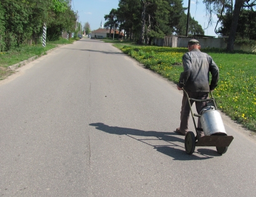
[[[182,56],[187,48],[164,48],[114,44],[146,68],[178,83],[183,71]],[[213,91],[218,109],[245,128],[256,131],[256,54],[227,54],[222,49],[202,49],[220,69],[220,80]]]

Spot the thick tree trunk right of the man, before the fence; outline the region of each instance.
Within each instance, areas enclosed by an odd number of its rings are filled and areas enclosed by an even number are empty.
[[[232,23],[231,23],[231,29],[228,36],[228,43],[227,43],[227,52],[232,52],[234,43],[235,43],[235,33],[237,32],[237,24],[239,19],[239,14],[241,11],[241,8],[243,6],[243,2],[245,0],[235,0],[235,8],[233,11],[232,16]]]

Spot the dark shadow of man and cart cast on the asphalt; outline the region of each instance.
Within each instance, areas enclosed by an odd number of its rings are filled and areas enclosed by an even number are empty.
[[[118,134],[118,135],[126,135],[130,138],[140,141],[141,143],[148,144],[153,146],[156,151],[160,153],[171,156],[174,160],[195,160],[195,159],[209,159],[213,158],[213,156],[219,156],[217,152],[212,149],[200,149],[198,154],[201,156],[196,156],[195,154],[188,155],[185,152],[184,146],[178,145],[179,143],[184,143],[185,140],[181,138],[177,138],[177,133],[172,132],[157,132],[157,131],[143,131],[140,129],[131,129],[131,128],[121,128],[118,126],[108,126],[104,123],[91,123],[90,126],[95,126],[96,129],[100,131],[104,131],[110,134]],[[138,139],[135,136],[144,136],[145,139]],[[151,139],[149,137],[152,137]],[[165,145],[153,145],[150,144],[150,141],[158,141],[160,144],[163,142]],[[176,143],[175,143],[176,142]],[[178,143],[177,143],[178,142]],[[168,144],[168,145],[166,145]],[[182,149],[180,149],[182,148]]]

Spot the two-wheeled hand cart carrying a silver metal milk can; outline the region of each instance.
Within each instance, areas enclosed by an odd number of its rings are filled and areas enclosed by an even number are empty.
[[[183,91],[188,97],[188,93],[184,89]],[[190,102],[188,102],[197,136],[195,137],[195,134],[192,131],[187,132],[185,136],[185,150],[187,154],[193,154],[195,146],[216,146],[217,152],[219,154],[224,154],[233,140],[233,136],[227,136],[222,118],[220,117],[220,113],[217,111],[212,91],[210,91],[210,95],[211,98],[208,99],[193,99],[188,97],[188,100],[207,102],[207,107],[204,108],[200,114],[194,114],[192,112],[192,106]],[[200,118],[203,129],[197,128],[195,124],[195,116]],[[199,131],[203,131],[205,136],[200,137]]]

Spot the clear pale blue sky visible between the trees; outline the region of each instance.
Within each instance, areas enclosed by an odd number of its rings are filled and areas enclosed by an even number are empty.
[[[197,2],[197,3],[196,3]],[[91,30],[100,28],[101,21],[104,24],[105,14],[109,14],[112,8],[118,8],[118,0],[72,0],[73,11],[78,11],[79,22],[84,26],[86,22],[90,24]],[[183,7],[188,7],[188,0],[183,0]],[[187,11],[185,11],[187,14]],[[190,15],[202,26],[207,28],[208,19],[205,12],[203,0],[190,0]],[[217,16],[213,17],[217,22]],[[205,29],[205,35],[217,36],[214,32],[215,24]]]

